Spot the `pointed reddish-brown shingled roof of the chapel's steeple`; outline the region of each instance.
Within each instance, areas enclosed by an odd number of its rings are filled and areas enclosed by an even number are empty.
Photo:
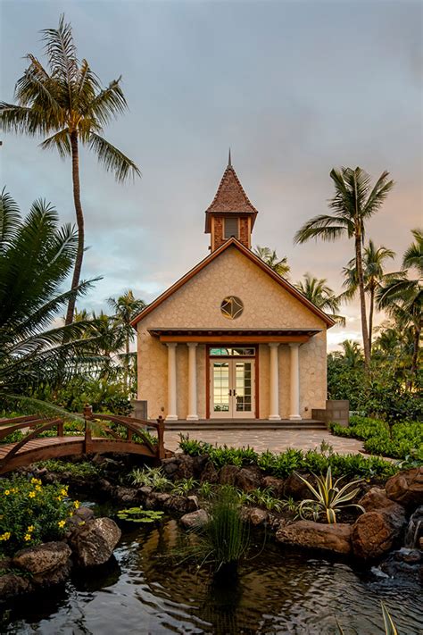
[[[209,233],[211,228],[210,217],[212,214],[224,213],[224,214],[252,214],[253,223],[257,216],[257,210],[252,205],[248,196],[246,196],[243,186],[236,175],[236,171],[232,167],[232,163],[229,163],[227,169],[223,172],[223,176],[220,180],[220,186],[214,196],[211,205],[205,211],[205,232]]]

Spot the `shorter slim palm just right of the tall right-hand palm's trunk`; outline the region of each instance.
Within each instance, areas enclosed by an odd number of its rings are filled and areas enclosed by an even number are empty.
[[[373,240],[369,240],[369,245],[364,248],[363,266],[364,266],[364,288],[369,295],[369,350],[371,355],[371,342],[373,336],[373,313],[375,309],[375,294],[380,285],[389,279],[392,274],[384,272],[384,263],[387,258],[394,258],[395,252],[387,249],[385,246],[376,248]],[[357,268],[355,266],[355,258],[344,267],[344,288],[342,298],[352,300],[359,288]]]

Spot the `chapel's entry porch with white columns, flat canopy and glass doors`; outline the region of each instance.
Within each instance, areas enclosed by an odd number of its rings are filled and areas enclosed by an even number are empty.
[[[282,379],[289,386],[288,421],[302,420],[299,349],[318,334],[319,329],[151,329],[148,332],[167,348],[167,422],[180,421],[181,386],[187,386],[187,422],[200,422],[199,412],[203,413],[202,418],[205,414],[205,422],[262,421],[262,392],[269,400],[266,420],[281,422],[279,351],[282,347],[289,351],[289,371],[286,368]],[[205,348],[205,365],[200,374],[199,345]],[[177,364],[178,347],[187,350],[187,363],[183,368]],[[259,353],[263,347],[268,350],[265,359]],[[205,403],[201,404],[198,403],[199,382],[205,383],[205,389],[200,391]]]

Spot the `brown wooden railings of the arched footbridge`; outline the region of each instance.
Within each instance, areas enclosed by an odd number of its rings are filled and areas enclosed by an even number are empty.
[[[83,454],[91,454],[95,451],[93,439],[95,422],[113,422],[126,428],[126,439],[122,439],[122,437],[118,434],[118,432],[116,432],[116,430],[112,430],[112,428],[107,425],[102,425],[102,430],[106,432],[106,434],[110,435],[113,439],[122,442],[122,447],[124,448],[122,451],[130,453],[130,449],[128,446],[136,444],[136,442],[133,440],[133,436],[134,434],[136,434],[137,437],[142,440],[142,445],[147,447],[149,453],[155,456],[156,459],[162,459],[165,456],[164,421],[162,417],[159,417],[157,419],[157,422],[149,422],[143,419],[134,419],[132,417],[125,417],[114,414],[93,413],[93,409],[90,405],[86,405],[84,407],[82,416],[84,419]],[[157,444],[153,444],[148,438],[145,427],[155,428],[157,432]],[[23,437],[23,439],[14,443],[8,450],[8,452],[0,458],[1,468],[4,468],[4,465],[11,461],[12,457],[21,450],[21,447],[24,447],[30,440],[36,439],[42,432],[45,432],[46,430],[56,428],[57,438],[65,438],[64,420],[62,418],[46,419],[41,417],[40,415],[30,415],[15,417],[13,419],[4,419],[0,421],[0,442],[2,441],[2,439],[12,434],[12,432],[28,428],[29,433],[25,437]],[[74,438],[78,436],[82,437],[82,433],[78,434],[78,430],[75,430],[75,434],[72,434],[71,436]],[[95,439],[95,443],[98,443],[98,441],[101,441],[101,439]],[[46,443],[46,449],[47,448],[48,443]]]

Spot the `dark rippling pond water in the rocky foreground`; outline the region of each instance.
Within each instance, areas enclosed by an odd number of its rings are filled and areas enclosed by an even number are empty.
[[[208,572],[171,562],[178,523],[124,531],[115,558],[58,590],[4,607],[2,633],[383,633],[380,600],[400,635],[423,632],[421,589],[348,563],[304,556],[267,543],[227,588]]]

